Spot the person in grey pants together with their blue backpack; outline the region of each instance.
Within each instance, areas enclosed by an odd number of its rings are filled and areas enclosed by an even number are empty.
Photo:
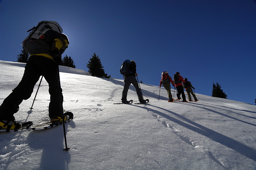
[[[133,60],[132,61],[125,60],[120,69],[120,73],[124,76],[124,88],[123,88],[122,98],[121,98],[122,103],[123,104],[130,103],[129,101],[127,101],[127,93],[130,85],[132,84],[136,89],[136,93],[140,103],[145,104],[146,101],[143,99],[141,89],[136,80],[136,76],[138,76],[138,74],[136,73],[136,63]]]

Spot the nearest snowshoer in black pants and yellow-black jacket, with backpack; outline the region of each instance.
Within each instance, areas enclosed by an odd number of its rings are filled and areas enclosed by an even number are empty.
[[[22,101],[29,99],[41,75],[49,85],[50,121],[62,121],[63,96],[59,85],[58,65],[61,62],[61,54],[68,48],[68,37],[62,33],[62,28],[55,21],[41,21],[29,31],[32,32],[22,44],[24,50],[31,55],[26,63],[22,80],[0,106],[0,129],[22,127],[13,115],[18,112]],[[64,116],[64,120],[68,118],[69,116]]]

